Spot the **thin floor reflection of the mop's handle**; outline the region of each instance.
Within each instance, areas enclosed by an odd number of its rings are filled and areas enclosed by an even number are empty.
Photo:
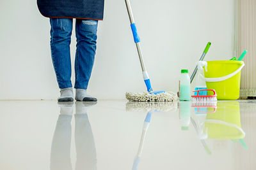
[[[140,138],[140,146],[138,149],[138,153],[134,159],[132,170],[138,169],[138,165],[140,163],[140,157],[141,157],[141,153],[142,153],[143,145],[144,145],[144,141],[145,141],[145,136],[146,136],[146,133],[148,130],[148,126],[150,124],[151,115],[152,115],[152,113],[150,111],[148,111],[147,117],[144,120],[143,131],[142,131],[141,138]]]

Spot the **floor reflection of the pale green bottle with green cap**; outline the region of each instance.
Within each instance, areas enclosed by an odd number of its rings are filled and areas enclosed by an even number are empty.
[[[188,127],[190,124],[190,109],[191,109],[190,101],[180,101],[179,109],[180,109],[181,129],[182,131],[188,131]]]

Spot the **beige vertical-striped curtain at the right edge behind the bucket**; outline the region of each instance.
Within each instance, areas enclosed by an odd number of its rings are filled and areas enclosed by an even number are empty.
[[[256,0],[235,0],[234,54],[244,57],[245,67],[241,75],[241,97],[256,97]]]

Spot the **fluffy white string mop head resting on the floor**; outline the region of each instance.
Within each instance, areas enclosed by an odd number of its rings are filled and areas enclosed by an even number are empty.
[[[128,101],[135,102],[172,102],[178,99],[177,94],[173,92],[163,92],[159,94],[126,92],[125,97]]]

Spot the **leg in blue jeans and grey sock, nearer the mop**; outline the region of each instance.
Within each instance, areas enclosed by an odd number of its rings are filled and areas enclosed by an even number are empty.
[[[75,89],[77,101],[97,101],[95,97],[89,96],[86,91],[96,52],[97,27],[97,20],[76,19]]]

